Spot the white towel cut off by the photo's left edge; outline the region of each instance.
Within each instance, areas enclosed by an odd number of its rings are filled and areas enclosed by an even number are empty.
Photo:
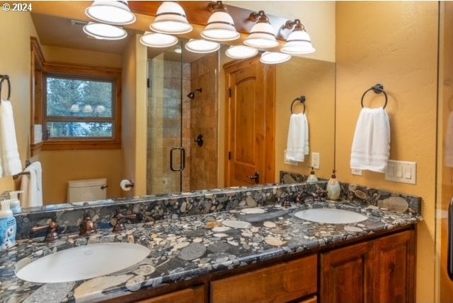
[[[22,172],[11,102],[0,101],[0,177]]]

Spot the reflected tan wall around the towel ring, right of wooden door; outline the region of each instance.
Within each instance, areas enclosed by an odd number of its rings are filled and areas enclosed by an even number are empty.
[[[298,166],[286,165],[284,150],[291,117],[289,107],[292,100],[300,95],[306,97],[310,154]],[[300,102],[294,104],[294,112],[302,111]],[[275,121],[275,181],[280,178],[280,170],[309,174],[311,153],[320,153],[321,165],[316,175],[324,179],[331,177],[335,135],[335,64],[294,57],[285,64],[277,65]]]

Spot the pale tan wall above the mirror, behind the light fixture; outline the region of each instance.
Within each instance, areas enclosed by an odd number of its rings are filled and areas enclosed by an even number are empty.
[[[335,1],[224,1],[224,3],[263,10],[270,15],[300,19],[316,52],[303,57],[335,61]]]

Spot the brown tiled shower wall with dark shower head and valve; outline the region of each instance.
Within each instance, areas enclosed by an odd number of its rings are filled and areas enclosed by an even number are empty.
[[[218,71],[218,52],[190,64],[190,89],[202,88],[190,101],[190,191],[217,188]],[[199,134],[202,147],[193,141]]]

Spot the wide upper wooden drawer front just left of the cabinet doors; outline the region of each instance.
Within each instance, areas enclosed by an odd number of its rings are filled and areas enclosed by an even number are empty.
[[[288,302],[317,290],[316,255],[211,283],[214,303]]]

